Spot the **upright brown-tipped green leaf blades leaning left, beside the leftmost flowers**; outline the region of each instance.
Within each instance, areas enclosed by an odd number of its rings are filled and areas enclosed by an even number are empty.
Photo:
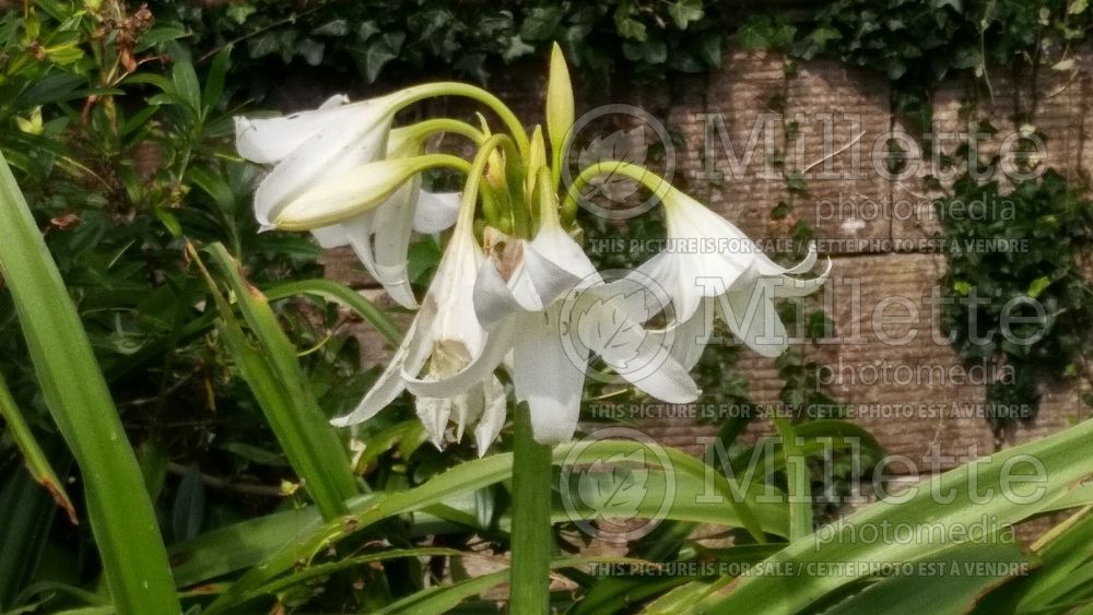
[[[345,513],[345,500],[357,494],[356,481],[345,447],[327,422],[301,370],[296,348],[281,330],[266,297],[243,279],[238,263],[224,247],[215,244],[208,251],[226,277],[250,332],[260,344],[260,348],[251,346],[232,306],[209,276],[210,292],[221,315],[221,333],[239,371],[324,517],[333,519]],[[190,257],[200,264],[192,248]]]

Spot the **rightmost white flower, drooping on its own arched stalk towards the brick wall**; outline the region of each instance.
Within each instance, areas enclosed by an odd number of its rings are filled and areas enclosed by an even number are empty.
[[[670,188],[662,201],[669,245],[685,249],[666,250],[638,272],[658,281],[672,297],[675,333],[682,342],[677,358],[687,368],[697,362],[712,333],[715,310],[749,347],[763,356],[780,355],[788,338],[774,299],[819,289],[831,261],[815,277],[792,277],[812,270],[814,244],[800,263],[784,268],[729,221],[683,192]]]

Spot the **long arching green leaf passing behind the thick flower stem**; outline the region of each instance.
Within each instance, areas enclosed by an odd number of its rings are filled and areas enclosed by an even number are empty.
[[[608,459],[612,456],[632,456],[635,451],[647,450],[647,445],[635,441],[611,441],[600,440],[595,442],[576,442],[562,445],[554,448],[553,463],[587,464],[598,460]],[[659,448],[668,463],[672,466],[675,480],[690,485],[687,490],[679,492],[689,495],[704,494],[707,496],[722,496],[720,501],[680,501],[678,506],[702,509],[710,517],[705,519],[717,519],[726,525],[743,527],[745,520],[739,513],[747,510],[754,522],[755,532],[763,536],[764,532],[784,533],[786,531],[786,517],[780,518],[775,515],[764,512],[763,517],[755,515],[749,501],[737,501],[736,506],[729,506],[732,501],[732,494],[725,477],[715,469],[707,466],[702,461],[674,449]],[[657,459],[657,454],[649,454],[646,459]],[[384,519],[396,515],[403,515],[415,510],[423,510],[433,505],[442,504],[461,494],[473,493],[477,489],[507,480],[513,472],[513,453],[502,453],[483,459],[461,463],[443,474],[430,480],[424,485],[402,492],[383,494],[383,497],[369,498],[362,507],[351,504],[352,516],[328,522],[322,525],[312,525],[304,529],[301,534],[286,540],[283,548],[263,558],[262,566],[255,568],[239,578],[227,589],[210,607],[205,614],[231,612],[239,605],[240,596],[249,595],[255,588],[261,587],[280,575],[291,570],[297,561],[309,561],[317,554],[327,551],[346,536],[353,535]],[[685,477],[684,477],[685,476]],[[708,487],[715,492],[706,493]],[[701,489],[701,490],[700,490]],[[686,499],[681,496],[680,500]],[[659,509],[659,501],[656,501]],[[769,508],[777,508],[781,505],[767,505]],[[675,506],[672,507],[673,509]],[[683,510],[684,508],[681,508]],[[556,520],[567,520],[566,512],[559,512]],[[760,522],[762,519],[763,523]],[[765,540],[765,539],[764,539]]]

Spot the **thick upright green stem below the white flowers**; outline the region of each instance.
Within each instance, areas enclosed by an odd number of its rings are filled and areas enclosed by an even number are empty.
[[[526,404],[516,409],[513,459],[513,613],[546,613],[554,540],[551,449],[536,441]]]

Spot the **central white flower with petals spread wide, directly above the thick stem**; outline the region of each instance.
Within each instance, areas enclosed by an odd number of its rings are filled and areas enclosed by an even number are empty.
[[[595,267],[562,229],[555,208],[544,203],[543,212],[542,228],[531,241],[487,229],[491,258],[474,284],[475,314],[490,331],[485,344],[463,370],[436,381],[408,381],[410,391],[466,390],[510,353],[516,397],[528,403],[536,440],[543,443],[573,437],[592,353],[655,398],[694,401],[698,389],[683,366],[606,292],[607,285],[597,283]]]

